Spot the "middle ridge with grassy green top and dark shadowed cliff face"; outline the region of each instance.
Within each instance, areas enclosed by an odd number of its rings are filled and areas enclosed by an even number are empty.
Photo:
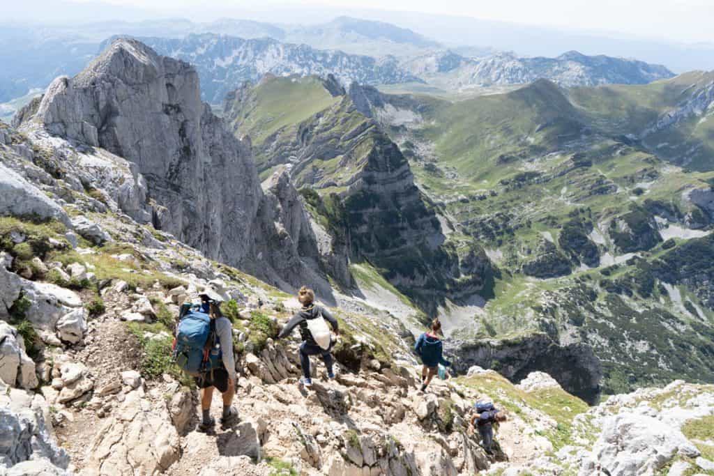
[[[229,95],[224,116],[238,133],[259,128],[258,169],[269,174],[287,164],[313,210],[324,211],[316,219],[346,238],[353,261],[367,260],[430,312],[446,298],[489,293],[493,270],[485,253],[476,243],[448,240],[399,147],[361,112],[368,112],[368,98],[358,106],[329,86],[315,78],[268,78]],[[306,97],[312,100],[304,103]],[[295,107],[276,114],[275,103]]]

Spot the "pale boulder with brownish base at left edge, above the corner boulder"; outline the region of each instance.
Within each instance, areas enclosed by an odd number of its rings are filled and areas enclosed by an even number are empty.
[[[0,320],[0,380],[11,387],[36,388],[39,385],[35,363],[25,353],[25,343],[17,330]]]

